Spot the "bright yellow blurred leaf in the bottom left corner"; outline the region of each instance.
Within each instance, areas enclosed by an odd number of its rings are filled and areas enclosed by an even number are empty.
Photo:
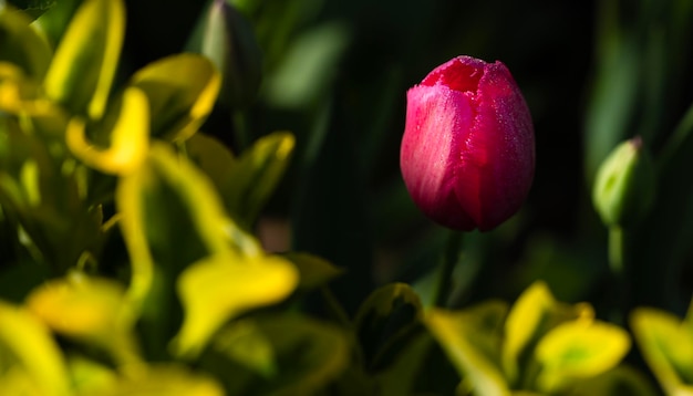
[[[63,356],[48,327],[27,310],[0,301],[0,362],[10,353],[44,395],[68,395]]]

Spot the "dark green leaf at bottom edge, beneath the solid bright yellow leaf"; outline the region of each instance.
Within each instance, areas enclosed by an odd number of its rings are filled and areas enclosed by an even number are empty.
[[[224,381],[228,395],[314,395],[337,379],[350,361],[346,334],[331,324],[301,315],[261,315],[251,319],[261,337],[271,343],[276,371],[266,377],[229,358],[213,343],[201,366]]]

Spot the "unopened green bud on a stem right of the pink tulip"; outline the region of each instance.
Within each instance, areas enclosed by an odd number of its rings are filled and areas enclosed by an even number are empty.
[[[621,143],[597,171],[592,201],[607,226],[629,226],[641,220],[654,200],[653,164],[642,139]]]

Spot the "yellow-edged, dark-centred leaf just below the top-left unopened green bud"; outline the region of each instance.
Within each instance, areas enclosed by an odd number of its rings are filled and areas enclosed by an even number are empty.
[[[220,84],[211,61],[192,53],[149,63],[130,81],[149,100],[152,135],[173,142],[197,132],[214,107]]]

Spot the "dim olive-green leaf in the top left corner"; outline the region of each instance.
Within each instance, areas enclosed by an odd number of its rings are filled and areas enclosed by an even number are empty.
[[[10,62],[37,82],[51,62],[52,51],[31,21],[10,8],[0,10],[0,62]]]

